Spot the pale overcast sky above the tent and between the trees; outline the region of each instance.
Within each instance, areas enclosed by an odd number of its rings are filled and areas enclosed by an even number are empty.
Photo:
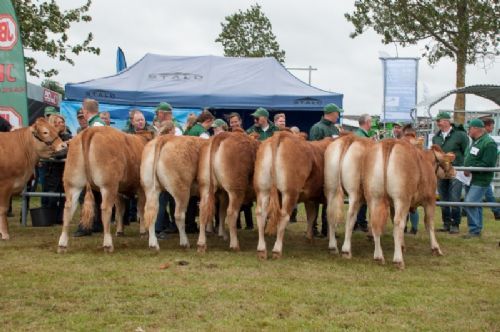
[[[62,3],[62,1],[58,1]],[[83,0],[64,1],[65,6],[77,6]],[[61,83],[81,82],[115,73],[116,48],[120,46],[131,64],[145,53],[165,55],[223,55],[222,46],[215,43],[224,17],[246,9],[255,1],[246,0],[93,0],[90,24],[75,25],[70,38],[83,40],[91,31],[94,45],[101,55],[82,54],[74,57],[75,66],[62,64],[37,55],[40,65],[55,67]],[[382,65],[379,52],[396,55],[394,45],[383,45],[373,31],[351,39],[351,23],[344,13],[351,12],[354,1],[325,0],[261,0],[264,13],[282,49],[286,51],[285,66],[318,68],[312,74],[312,84],[324,90],[344,94],[346,114],[380,114],[382,109]],[[424,44],[401,48],[399,56],[419,57]],[[29,53],[27,53],[29,54]],[[500,61],[486,72],[479,66],[467,67],[467,85],[500,84]],[[293,74],[307,81],[306,72]],[[32,82],[41,79],[31,78]],[[442,60],[433,67],[426,59],[419,65],[419,96],[423,87],[429,95],[454,88],[455,63]],[[450,109],[450,97],[434,109]],[[494,103],[470,96],[467,108],[473,110],[498,108]]]

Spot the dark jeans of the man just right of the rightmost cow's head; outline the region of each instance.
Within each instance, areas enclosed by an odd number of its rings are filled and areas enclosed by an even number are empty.
[[[438,180],[437,189],[441,201],[460,202],[460,197],[462,196],[462,182],[460,182],[459,180]],[[444,228],[450,228],[450,226],[460,225],[460,207],[442,206],[441,218],[443,220]]]

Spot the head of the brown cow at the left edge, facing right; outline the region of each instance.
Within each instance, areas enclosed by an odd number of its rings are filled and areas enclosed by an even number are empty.
[[[57,129],[44,118],[38,118],[30,127],[35,150],[41,158],[50,158],[55,152],[68,148],[59,137]]]

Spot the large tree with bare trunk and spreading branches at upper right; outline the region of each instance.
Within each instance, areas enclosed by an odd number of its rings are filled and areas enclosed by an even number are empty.
[[[457,88],[465,86],[467,64],[500,54],[498,0],[358,0],[345,17],[354,25],[352,38],[373,28],[384,44],[426,41],[422,56],[430,64],[456,62]],[[455,110],[464,109],[465,95],[457,95]],[[455,113],[455,121],[464,123],[464,114]]]

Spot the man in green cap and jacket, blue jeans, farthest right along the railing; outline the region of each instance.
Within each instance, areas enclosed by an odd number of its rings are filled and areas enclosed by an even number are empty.
[[[469,122],[469,136],[472,144],[465,153],[466,167],[495,167],[497,163],[497,144],[484,129],[483,121],[474,119]],[[464,202],[482,202],[493,179],[493,172],[465,172],[471,175],[470,186],[466,188]],[[469,234],[464,238],[479,237],[483,230],[483,208],[466,207]]]

